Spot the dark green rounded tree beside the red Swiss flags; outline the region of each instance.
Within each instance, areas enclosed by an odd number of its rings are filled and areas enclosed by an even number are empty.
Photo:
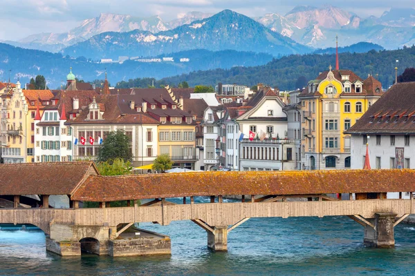
[[[111,131],[100,146],[98,161],[108,161],[111,165],[117,158],[131,161],[133,155],[130,146],[131,139],[124,134],[124,130]]]

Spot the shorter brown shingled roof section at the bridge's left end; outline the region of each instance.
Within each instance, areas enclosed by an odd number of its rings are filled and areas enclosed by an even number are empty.
[[[92,161],[0,165],[0,195],[71,195],[88,175]]]

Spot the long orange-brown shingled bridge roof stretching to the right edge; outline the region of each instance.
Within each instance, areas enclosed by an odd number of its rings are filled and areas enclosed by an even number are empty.
[[[210,195],[313,195],[415,190],[415,170],[186,172],[89,176],[71,199],[117,201]]]

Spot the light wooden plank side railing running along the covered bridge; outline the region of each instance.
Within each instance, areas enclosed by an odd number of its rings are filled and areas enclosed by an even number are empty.
[[[236,224],[246,217],[325,217],[375,213],[415,213],[414,199],[367,199],[342,201],[234,202],[169,204],[118,208],[29,208],[0,209],[0,224],[33,224],[49,233],[50,224],[118,226],[131,222],[158,222],[200,219],[211,226]]]

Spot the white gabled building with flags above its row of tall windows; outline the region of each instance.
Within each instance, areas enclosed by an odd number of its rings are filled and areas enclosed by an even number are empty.
[[[261,88],[236,119],[245,138],[239,144],[239,170],[294,170],[295,141],[287,135],[285,104],[271,88]],[[250,141],[248,135],[255,133]]]

